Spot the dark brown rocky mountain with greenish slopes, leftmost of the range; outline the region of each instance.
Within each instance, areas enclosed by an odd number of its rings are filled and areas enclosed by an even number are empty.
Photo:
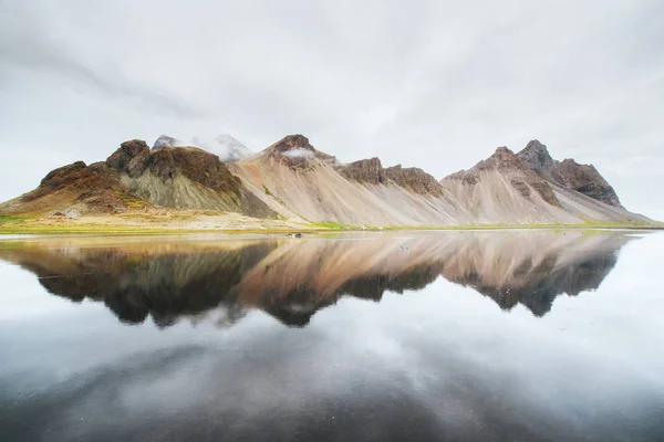
[[[1,204],[0,212],[79,217],[155,206],[276,217],[217,156],[195,147],[151,150],[136,139],[123,143],[104,162],[77,161],[51,171],[35,190]]]

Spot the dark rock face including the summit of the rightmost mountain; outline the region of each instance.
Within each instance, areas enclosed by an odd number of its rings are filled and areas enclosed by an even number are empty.
[[[556,161],[547,146],[537,139],[528,143],[518,157],[540,177],[575,190],[598,201],[622,208],[618,194],[593,166],[580,165],[573,159]]]

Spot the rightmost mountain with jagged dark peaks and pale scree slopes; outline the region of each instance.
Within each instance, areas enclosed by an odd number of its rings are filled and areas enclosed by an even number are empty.
[[[556,161],[537,140],[519,154],[499,147],[440,183],[466,202],[479,223],[652,222],[625,210],[594,167]]]

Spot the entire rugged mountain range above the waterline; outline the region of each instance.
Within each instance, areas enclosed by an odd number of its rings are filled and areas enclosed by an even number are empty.
[[[440,180],[378,158],[343,164],[289,135],[252,154],[229,135],[190,143],[123,143],[105,161],[77,161],[0,204],[4,217],[86,218],[206,211],[255,220],[355,227],[654,223],[627,211],[590,165],[554,160],[530,141],[499,147]]]

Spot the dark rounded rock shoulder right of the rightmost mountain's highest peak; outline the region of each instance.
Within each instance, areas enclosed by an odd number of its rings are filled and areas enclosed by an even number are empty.
[[[594,166],[580,165],[573,159],[566,159],[558,164],[557,169],[564,187],[606,204],[622,208],[615,190]]]

